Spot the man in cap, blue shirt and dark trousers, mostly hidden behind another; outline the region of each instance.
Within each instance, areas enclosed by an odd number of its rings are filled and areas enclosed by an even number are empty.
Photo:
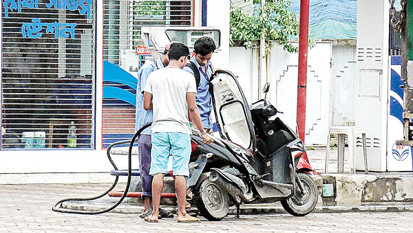
[[[136,86],[136,125],[135,131],[143,125],[152,122],[152,110],[143,108],[143,90],[145,88],[148,75],[160,68],[165,68],[169,64],[168,51],[169,46],[165,46],[162,56],[156,61],[149,61],[142,65],[138,71],[138,85]],[[142,199],[144,199],[145,208],[140,217],[145,218],[151,214],[152,210],[152,179],[149,175],[151,167],[151,127],[142,131],[138,138],[139,145],[139,163],[140,163],[140,182],[142,183]]]

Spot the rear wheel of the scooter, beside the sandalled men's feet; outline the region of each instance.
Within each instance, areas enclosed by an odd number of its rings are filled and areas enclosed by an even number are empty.
[[[220,221],[229,212],[229,195],[216,183],[204,179],[194,192],[195,205],[209,221]]]

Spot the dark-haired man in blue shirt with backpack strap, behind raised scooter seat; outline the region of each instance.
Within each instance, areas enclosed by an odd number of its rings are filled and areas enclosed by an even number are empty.
[[[213,132],[211,115],[212,102],[211,94],[209,93],[209,79],[213,74],[213,66],[210,60],[215,48],[215,42],[211,37],[201,37],[193,44],[195,55],[190,60],[200,74],[200,81],[196,93],[196,105],[200,111],[202,125],[209,134]],[[184,70],[194,74],[194,70],[189,66],[185,66]]]

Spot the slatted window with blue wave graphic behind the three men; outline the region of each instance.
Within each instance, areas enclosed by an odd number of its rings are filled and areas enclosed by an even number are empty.
[[[136,52],[138,46],[143,45],[140,28],[191,26],[192,4],[191,0],[103,1],[103,59],[107,61],[103,65],[103,148],[114,141],[131,139],[133,136],[135,103],[131,96],[136,94],[136,84],[113,81],[110,74],[106,75],[105,68],[117,65],[129,72],[136,81],[140,65],[151,59],[147,54]],[[108,94],[109,91],[117,91],[118,97]],[[123,94],[130,98],[121,98]]]

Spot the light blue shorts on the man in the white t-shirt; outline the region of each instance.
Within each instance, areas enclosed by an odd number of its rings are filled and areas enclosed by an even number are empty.
[[[173,175],[189,176],[191,135],[181,132],[153,133],[149,174],[167,173],[169,154],[172,154]]]

